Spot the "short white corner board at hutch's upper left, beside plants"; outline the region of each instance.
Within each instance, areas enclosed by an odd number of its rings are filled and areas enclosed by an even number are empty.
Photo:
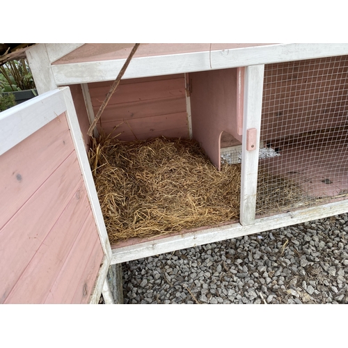
[[[52,73],[51,62],[45,44],[35,45],[26,50],[26,58],[33,73],[36,89],[39,94],[57,88]]]

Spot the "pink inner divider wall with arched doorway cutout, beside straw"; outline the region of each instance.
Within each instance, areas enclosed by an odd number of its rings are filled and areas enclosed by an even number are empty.
[[[193,72],[189,78],[193,139],[200,143],[214,166],[220,169],[222,132],[242,140],[237,124],[237,68]]]

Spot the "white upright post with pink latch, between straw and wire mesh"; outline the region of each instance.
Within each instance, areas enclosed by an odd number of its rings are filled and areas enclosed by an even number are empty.
[[[262,109],[264,65],[249,66],[244,75],[244,120],[242,141],[242,187],[240,223],[255,223],[256,189],[258,186],[258,156]],[[253,132],[250,129],[255,129]],[[253,134],[255,146],[247,150],[248,136]]]

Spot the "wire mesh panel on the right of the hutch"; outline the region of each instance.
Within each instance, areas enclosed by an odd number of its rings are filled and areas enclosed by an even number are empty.
[[[347,198],[348,56],[265,66],[257,214]],[[261,149],[262,150],[262,149]]]

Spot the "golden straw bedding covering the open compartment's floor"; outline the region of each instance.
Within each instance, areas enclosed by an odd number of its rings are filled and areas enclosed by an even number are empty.
[[[217,171],[187,139],[92,142],[90,166],[111,244],[238,219],[240,164]]]

